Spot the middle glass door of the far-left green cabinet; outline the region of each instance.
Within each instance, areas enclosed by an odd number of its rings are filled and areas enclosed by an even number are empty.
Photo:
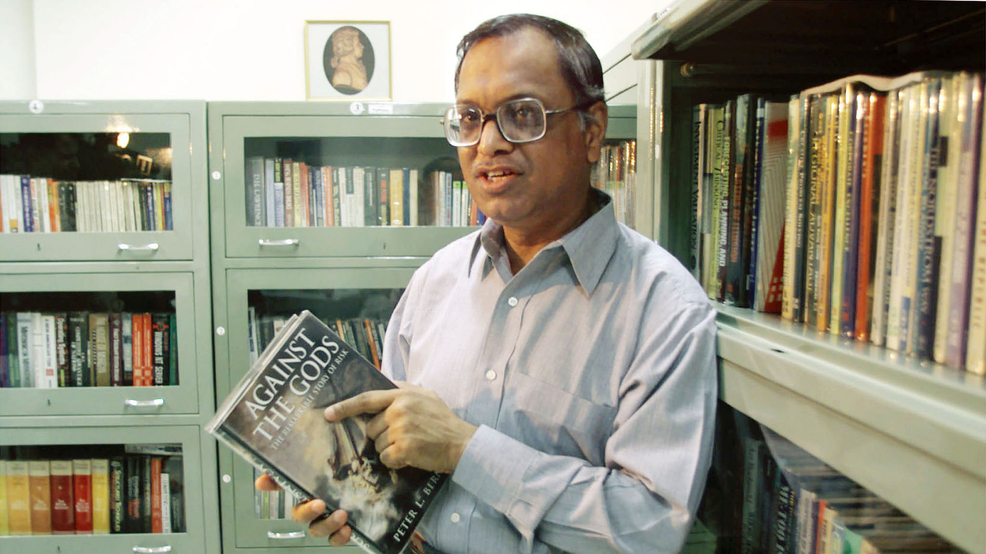
[[[0,415],[197,413],[192,288],[192,273],[6,275]]]

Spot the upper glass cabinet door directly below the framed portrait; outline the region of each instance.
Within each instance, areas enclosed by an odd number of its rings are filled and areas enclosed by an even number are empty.
[[[479,225],[444,106],[381,105],[222,117],[226,255],[428,255]]]

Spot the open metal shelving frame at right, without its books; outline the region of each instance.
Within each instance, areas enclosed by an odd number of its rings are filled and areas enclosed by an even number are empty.
[[[656,63],[656,239],[689,255],[691,107],[857,73],[983,71],[982,2],[673,2],[634,36]],[[643,152],[643,151],[642,151]],[[980,185],[981,186],[981,185]],[[914,519],[986,552],[986,385],[930,362],[717,305],[720,395]]]

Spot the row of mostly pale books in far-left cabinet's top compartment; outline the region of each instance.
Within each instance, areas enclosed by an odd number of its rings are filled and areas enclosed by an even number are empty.
[[[0,174],[0,233],[172,231],[172,183]]]

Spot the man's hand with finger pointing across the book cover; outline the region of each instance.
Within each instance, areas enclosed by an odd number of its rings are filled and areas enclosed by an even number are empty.
[[[452,473],[476,432],[438,394],[406,382],[398,388],[370,390],[325,408],[325,419],[377,414],[367,426],[384,465]]]

